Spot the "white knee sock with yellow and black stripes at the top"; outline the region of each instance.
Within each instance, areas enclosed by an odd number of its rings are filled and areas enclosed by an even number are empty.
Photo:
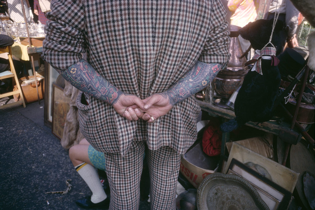
[[[75,168],[92,191],[91,201],[93,203],[104,201],[107,198],[107,195],[104,192],[95,167],[87,163],[81,163],[80,165],[75,166]]]

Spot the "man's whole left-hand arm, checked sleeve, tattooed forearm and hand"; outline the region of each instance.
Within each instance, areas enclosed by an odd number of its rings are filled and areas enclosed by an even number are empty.
[[[71,11],[71,12],[69,12]],[[67,13],[67,15],[64,15]],[[69,15],[73,15],[69,17]],[[143,107],[144,102],[134,95],[126,94],[104,77],[102,77],[81,53],[85,52],[85,14],[80,1],[53,0],[51,12],[47,14],[45,26],[46,38],[43,41],[43,59],[77,89],[109,103],[116,112],[123,116],[125,108],[137,104]],[[128,120],[137,120],[132,116]]]

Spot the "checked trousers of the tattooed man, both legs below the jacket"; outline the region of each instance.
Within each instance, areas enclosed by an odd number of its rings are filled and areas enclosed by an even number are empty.
[[[105,153],[106,173],[111,188],[109,209],[139,209],[144,152],[150,172],[151,209],[175,209],[180,154],[168,146],[158,150],[147,149],[144,141],[131,143],[125,156]]]

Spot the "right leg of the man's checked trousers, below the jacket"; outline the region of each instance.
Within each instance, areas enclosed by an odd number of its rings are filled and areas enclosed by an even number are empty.
[[[175,209],[180,154],[168,146],[163,146],[157,150],[146,149],[146,158],[151,180],[151,209]]]

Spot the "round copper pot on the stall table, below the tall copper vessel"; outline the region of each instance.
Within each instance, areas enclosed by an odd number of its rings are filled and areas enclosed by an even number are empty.
[[[221,70],[213,80],[214,90],[218,96],[230,98],[236,88],[243,83],[248,70],[241,69],[231,71],[229,69]]]

